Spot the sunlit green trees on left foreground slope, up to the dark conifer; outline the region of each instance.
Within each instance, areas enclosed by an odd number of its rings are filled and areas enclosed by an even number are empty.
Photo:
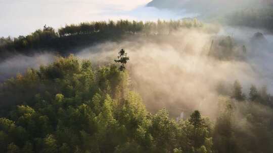
[[[18,74],[0,97],[13,102],[0,105],[3,152],[204,152],[213,145],[198,111],[179,123],[166,109],[149,114],[125,70],[94,69],[73,55]]]

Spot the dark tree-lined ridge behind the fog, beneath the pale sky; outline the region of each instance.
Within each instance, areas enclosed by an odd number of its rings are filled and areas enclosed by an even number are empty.
[[[14,53],[31,54],[47,51],[69,55],[80,48],[105,41],[120,41],[134,35],[166,35],[179,28],[202,27],[203,24],[195,20],[177,20],[142,22],[120,20],[85,22],[78,25],[66,25],[57,31],[45,25],[27,36],[16,38],[0,38],[1,58]]]

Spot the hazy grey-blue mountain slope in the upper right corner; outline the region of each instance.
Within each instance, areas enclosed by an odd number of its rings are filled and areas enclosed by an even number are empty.
[[[198,13],[197,18],[205,22],[262,28],[272,32],[273,3],[271,1],[154,0],[147,6],[176,10],[176,12],[185,9],[188,12]]]

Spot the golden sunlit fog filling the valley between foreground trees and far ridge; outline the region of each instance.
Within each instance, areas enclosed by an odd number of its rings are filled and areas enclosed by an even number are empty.
[[[238,46],[246,46],[245,58],[219,60],[208,56],[211,41],[228,35]],[[254,35],[265,39],[254,40]],[[251,84],[266,85],[269,93],[273,93],[272,42],[273,35],[258,29],[222,27],[215,32],[180,29],[170,35],[138,36],[121,43],[105,42],[90,46],[76,56],[91,59],[95,65],[109,63],[124,48],[130,57],[127,69],[131,88],[141,94],[149,110],[165,107],[172,110],[172,115],[177,115],[181,111],[199,109],[213,116],[219,83],[232,86],[239,80],[246,95]],[[0,63],[0,76],[3,79],[53,59],[54,55],[48,53],[31,57],[16,55]]]

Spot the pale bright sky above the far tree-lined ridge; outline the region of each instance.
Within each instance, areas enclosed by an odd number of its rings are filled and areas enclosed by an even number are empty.
[[[88,21],[180,19],[167,10],[145,7],[151,0],[0,0],[0,37],[18,37],[44,25],[60,28]]]

